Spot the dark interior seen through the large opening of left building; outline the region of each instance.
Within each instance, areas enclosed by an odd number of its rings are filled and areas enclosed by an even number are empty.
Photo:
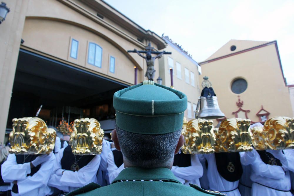
[[[7,131],[13,118],[38,117],[58,126],[77,118],[114,120],[113,93],[126,85],[21,49],[15,73]],[[107,133],[112,126],[101,123]],[[112,123],[113,124],[113,123]]]

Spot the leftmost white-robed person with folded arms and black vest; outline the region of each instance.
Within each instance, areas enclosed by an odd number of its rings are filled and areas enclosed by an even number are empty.
[[[16,156],[21,157],[23,162]],[[34,158],[32,158],[34,157]],[[34,159],[26,163],[26,160]],[[11,183],[12,196],[44,196],[53,193],[47,185],[53,169],[55,156],[49,155],[15,155],[9,154],[2,164],[1,175],[4,182]]]

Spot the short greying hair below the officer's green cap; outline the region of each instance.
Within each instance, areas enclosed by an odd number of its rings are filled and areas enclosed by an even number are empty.
[[[126,160],[138,167],[170,167],[181,130],[161,135],[143,135],[122,130],[116,125],[118,143]]]

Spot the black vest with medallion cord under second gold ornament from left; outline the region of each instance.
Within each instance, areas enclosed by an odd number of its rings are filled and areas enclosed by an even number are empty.
[[[61,158],[61,168],[64,170],[71,170],[71,165],[74,164],[75,158],[71,151],[71,145],[66,146],[63,151],[63,156]],[[95,157],[96,155],[76,155],[76,160],[78,161],[78,166],[80,169],[86,165]],[[80,159],[81,158],[81,159]]]

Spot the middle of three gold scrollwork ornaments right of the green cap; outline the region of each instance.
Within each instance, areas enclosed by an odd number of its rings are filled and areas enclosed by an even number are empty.
[[[216,152],[244,152],[253,150],[249,119],[227,118],[216,132]]]

